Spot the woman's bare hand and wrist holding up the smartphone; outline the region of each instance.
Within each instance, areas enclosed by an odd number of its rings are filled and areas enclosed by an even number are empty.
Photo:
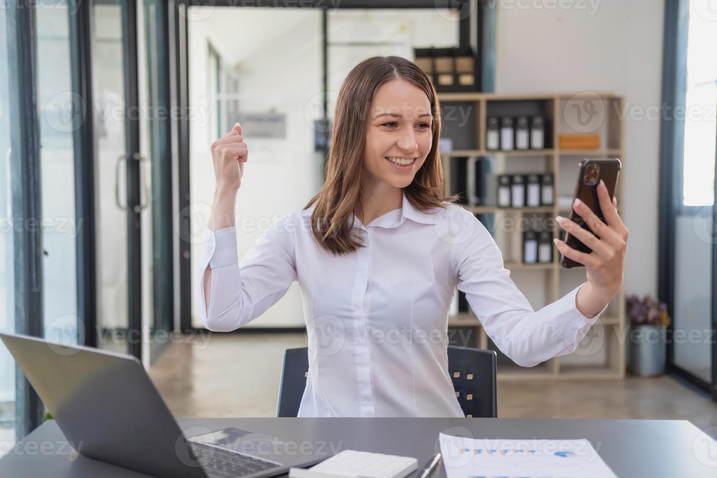
[[[625,271],[628,231],[617,214],[617,200],[613,198],[610,201],[602,179],[597,186],[597,197],[605,222],[579,199],[573,204],[573,209],[584,219],[590,231],[570,219],[561,216],[556,218],[563,229],[592,249],[591,253],[577,251],[564,241],[553,239],[565,257],[583,264],[587,270],[587,282],[578,291],[575,301],[576,307],[585,317],[593,317],[615,297]]]

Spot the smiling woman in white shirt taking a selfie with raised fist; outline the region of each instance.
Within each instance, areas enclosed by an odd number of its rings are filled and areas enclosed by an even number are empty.
[[[435,88],[414,63],[372,57],[338,94],[326,181],[302,211],[277,221],[237,266],[234,203],[247,145],[241,126],[212,145],[217,188],[201,267],[202,320],[241,327],[302,292],[309,372],[298,416],[463,416],[447,363],[447,311],[465,292],[485,332],[519,365],[571,353],[622,284],[627,229],[599,187],[607,224],[574,206],[598,239],[556,242],[587,282],[533,311],[492,236],[443,197]]]

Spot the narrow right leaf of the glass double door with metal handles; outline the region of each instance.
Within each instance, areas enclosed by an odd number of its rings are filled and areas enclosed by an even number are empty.
[[[152,363],[171,343],[174,328],[174,207],[169,3],[138,1],[138,93],[143,158],[141,212],[142,361]]]

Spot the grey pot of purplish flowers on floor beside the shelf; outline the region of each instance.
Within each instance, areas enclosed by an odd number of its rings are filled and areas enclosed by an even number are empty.
[[[670,324],[668,306],[649,295],[625,300],[630,320],[630,371],[641,377],[665,373],[665,327]]]

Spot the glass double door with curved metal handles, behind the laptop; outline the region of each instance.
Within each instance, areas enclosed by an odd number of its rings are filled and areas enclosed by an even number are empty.
[[[149,365],[174,328],[166,1],[95,0],[98,347]]]

